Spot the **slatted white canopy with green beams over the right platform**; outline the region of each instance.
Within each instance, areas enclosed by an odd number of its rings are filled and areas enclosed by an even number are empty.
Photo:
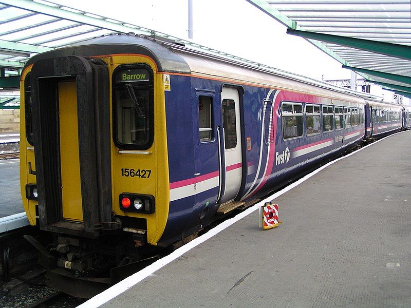
[[[247,0],[368,81],[411,98],[409,0]]]

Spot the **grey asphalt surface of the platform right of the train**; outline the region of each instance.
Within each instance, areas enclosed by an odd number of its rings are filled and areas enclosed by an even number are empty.
[[[275,200],[281,226],[239,220],[104,307],[411,306],[411,131]]]

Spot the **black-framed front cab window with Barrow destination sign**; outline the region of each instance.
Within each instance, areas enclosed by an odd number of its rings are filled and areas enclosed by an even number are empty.
[[[115,142],[119,148],[148,149],[154,139],[152,72],[126,66],[114,73]]]

